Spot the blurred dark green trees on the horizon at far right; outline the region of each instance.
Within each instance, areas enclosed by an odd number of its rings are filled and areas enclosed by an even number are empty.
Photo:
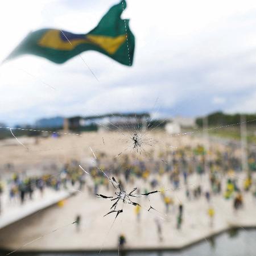
[[[245,114],[247,125],[255,125],[256,114]],[[196,119],[196,124],[203,127],[204,117]],[[255,121],[254,121],[255,120]],[[240,123],[240,114],[225,114],[223,112],[215,112],[208,115],[209,126],[221,126],[221,125],[233,125],[234,123]]]

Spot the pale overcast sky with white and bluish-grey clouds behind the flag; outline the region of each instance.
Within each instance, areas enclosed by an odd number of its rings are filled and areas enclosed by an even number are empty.
[[[39,28],[88,32],[115,3],[3,2],[0,61]],[[146,110],[155,116],[256,112],[255,0],[127,0],[122,17],[130,18],[135,35],[133,67],[84,52],[97,81],[79,56],[61,65],[19,57],[0,66],[0,122],[113,111]]]

